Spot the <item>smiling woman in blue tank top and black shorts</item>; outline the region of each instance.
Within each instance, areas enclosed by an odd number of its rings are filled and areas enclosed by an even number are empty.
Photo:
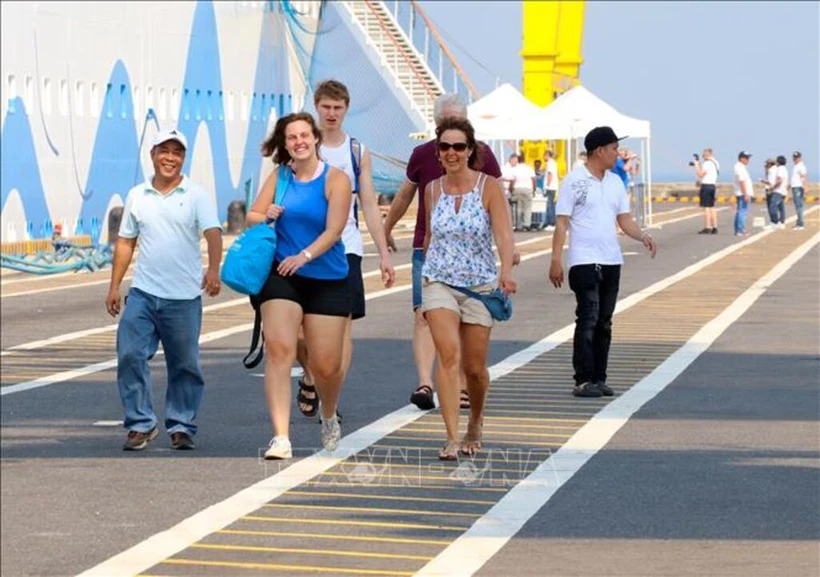
[[[262,154],[290,167],[281,204],[273,204],[278,171],[265,180],[248,211],[249,225],[276,222],[276,257],[268,280],[251,298],[262,315],[265,399],[273,424],[266,459],[292,456],[290,369],[304,328],[308,365],[321,399],[322,444],[336,449],[336,405],[342,386],[342,344],[350,315],[348,267],[341,237],[350,211],[350,180],[319,158],[321,133],[307,113],[280,118]]]

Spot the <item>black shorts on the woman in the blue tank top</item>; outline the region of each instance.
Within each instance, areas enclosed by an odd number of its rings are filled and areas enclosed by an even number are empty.
[[[350,316],[350,286],[347,279],[281,276],[276,272],[278,266],[278,262],[273,263],[265,286],[258,295],[251,296],[254,307],[270,300],[282,299],[297,303],[306,315]]]

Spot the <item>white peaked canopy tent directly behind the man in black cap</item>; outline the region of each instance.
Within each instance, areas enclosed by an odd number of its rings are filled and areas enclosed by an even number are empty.
[[[648,120],[621,114],[583,86],[564,92],[543,109],[542,121],[551,127],[551,140],[575,143],[596,126],[610,126],[618,136],[641,139],[641,176],[644,183],[644,209],[647,222],[652,219],[651,131]],[[572,151],[572,147],[568,147]]]

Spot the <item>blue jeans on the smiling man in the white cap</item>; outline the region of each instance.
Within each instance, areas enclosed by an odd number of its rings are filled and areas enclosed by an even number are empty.
[[[117,385],[129,431],[147,433],[157,425],[148,361],[162,343],[168,387],[165,429],[196,434],[205,381],[199,366],[202,298],[169,300],[132,288],[117,328]]]

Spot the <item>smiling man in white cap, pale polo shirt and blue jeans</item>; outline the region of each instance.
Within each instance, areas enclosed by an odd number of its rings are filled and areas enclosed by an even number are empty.
[[[120,284],[134,249],[139,258],[117,329],[117,384],[128,430],[123,450],[141,451],[157,436],[148,361],[159,343],[168,389],[165,429],[174,449],[193,449],[205,381],[199,365],[201,291],[219,294],[222,227],[211,197],[182,174],[188,142],[178,130],[157,134],[151,147],[154,175],[128,192],[114,248],[105,305],[121,309]],[[203,275],[199,233],[208,243]]]

